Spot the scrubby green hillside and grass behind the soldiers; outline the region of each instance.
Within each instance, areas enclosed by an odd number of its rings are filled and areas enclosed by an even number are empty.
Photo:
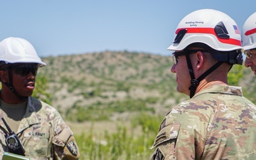
[[[149,159],[161,119],[189,97],[176,92],[171,56],[127,51],[46,57],[34,95],[70,124],[82,159]],[[230,70],[232,85],[256,102],[255,75]]]

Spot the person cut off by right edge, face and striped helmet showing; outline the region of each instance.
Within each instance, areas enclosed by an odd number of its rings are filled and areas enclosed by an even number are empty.
[[[242,49],[246,55],[245,67],[256,75],[256,12],[242,26]]]

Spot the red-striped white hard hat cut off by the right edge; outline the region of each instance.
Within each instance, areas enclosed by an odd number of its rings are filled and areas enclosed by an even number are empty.
[[[242,26],[242,49],[256,48],[256,12]]]

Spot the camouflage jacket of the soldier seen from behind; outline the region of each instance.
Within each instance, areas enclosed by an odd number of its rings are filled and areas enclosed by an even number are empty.
[[[174,107],[151,160],[256,159],[256,106],[241,87],[213,85]]]

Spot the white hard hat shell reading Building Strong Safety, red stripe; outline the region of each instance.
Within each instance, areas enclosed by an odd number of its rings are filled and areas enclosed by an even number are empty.
[[[201,9],[185,16],[176,28],[174,42],[168,50],[183,50],[192,43],[205,43],[214,50],[241,49],[237,23],[227,14]]]

